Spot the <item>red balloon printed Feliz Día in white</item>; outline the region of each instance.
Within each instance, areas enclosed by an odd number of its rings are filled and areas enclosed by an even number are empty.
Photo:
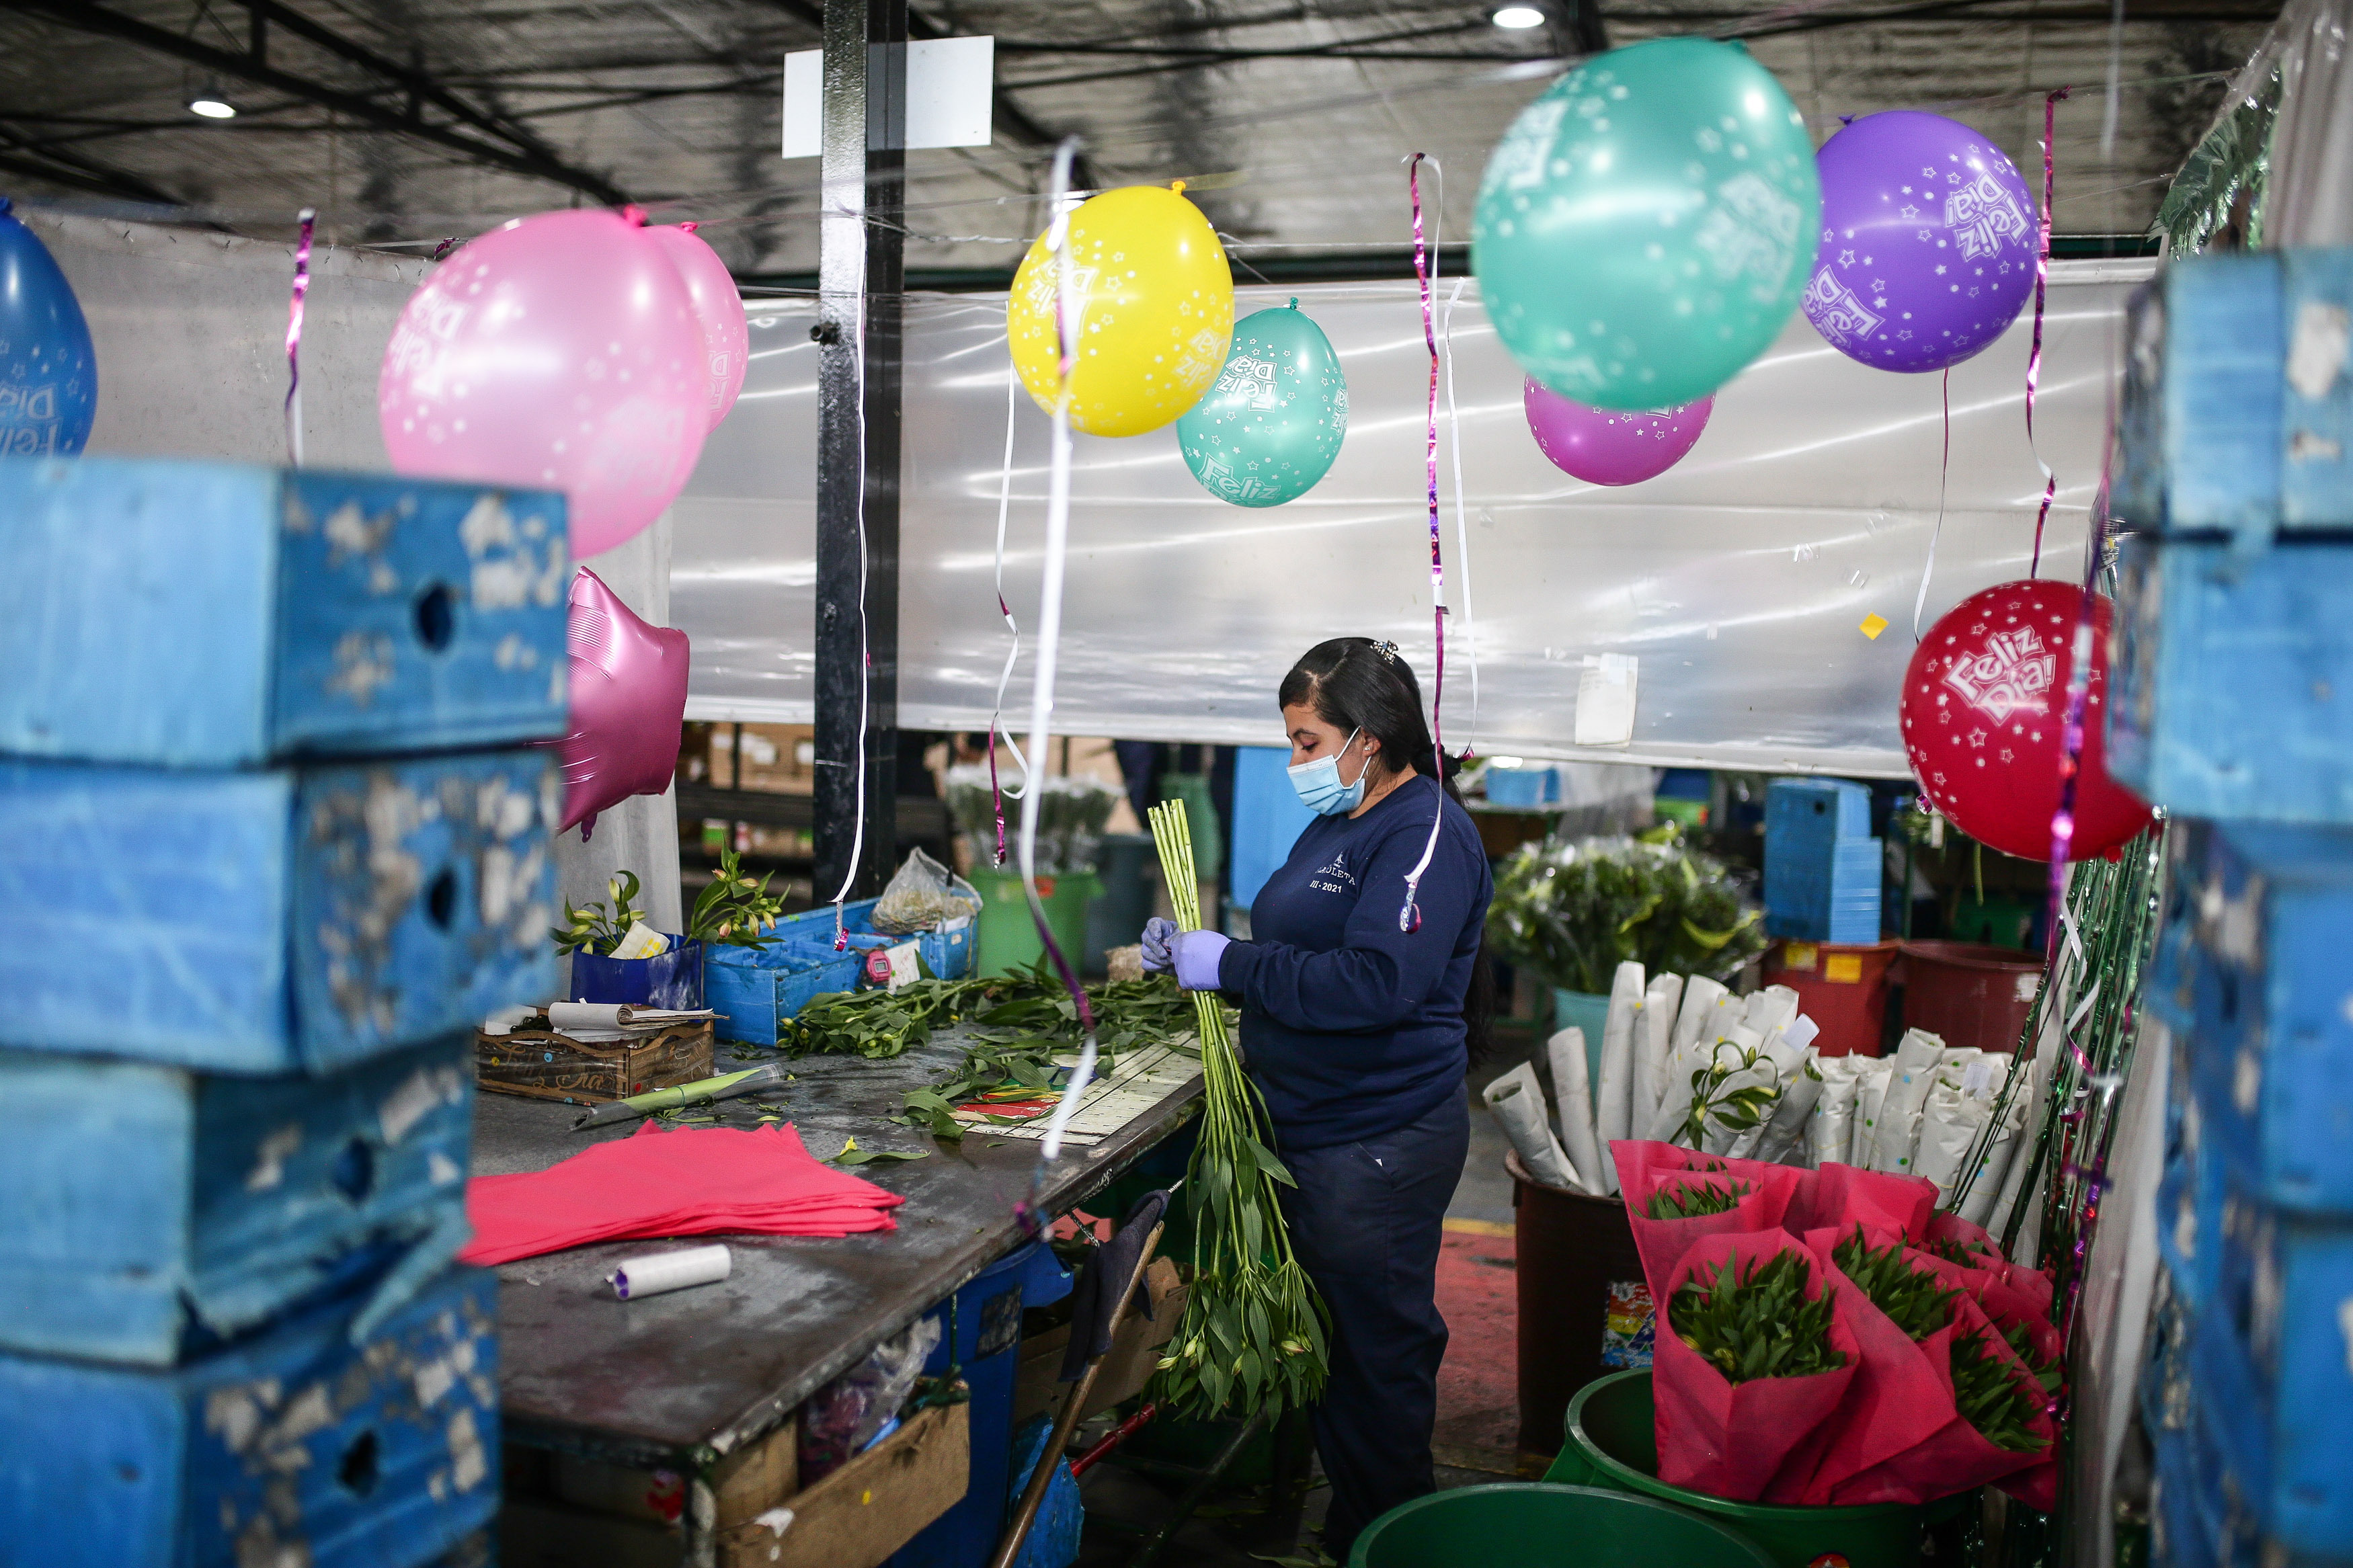
[[[2024,860],[2052,858],[2066,686],[2075,668],[2073,583],[2002,583],[1929,628],[1904,670],[1904,752],[1920,792],[1972,839]],[[2092,607],[2092,684],[2082,710],[2071,856],[2108,853],[2148,827],[2148,806],[2108,778],[2108,625]]]

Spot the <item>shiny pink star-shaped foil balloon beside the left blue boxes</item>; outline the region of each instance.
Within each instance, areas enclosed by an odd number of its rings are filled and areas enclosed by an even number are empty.
[[[678,771],[687,717],[687,635],[652,625],[605,578],[572,576],[572,733],[565,748],[565,827],[586,839],[595,813],[631,795],[661,795]]]

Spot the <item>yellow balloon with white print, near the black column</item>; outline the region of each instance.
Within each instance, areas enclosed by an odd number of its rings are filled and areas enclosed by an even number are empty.
[[[1144,435],[1200,402],[1233,343],[1226,247],[1184,183],[1125,186],[1071,214],[1071,428]],[[1040,409],[1061,393],[1054,252],[1038,235],[1005,306],[1014,371]]]

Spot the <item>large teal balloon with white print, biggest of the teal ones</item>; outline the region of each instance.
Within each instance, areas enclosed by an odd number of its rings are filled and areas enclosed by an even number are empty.
[[[1562,397],[1697,402],[1774,341],[1812,270],[1805,118],[1739,45],[1595,54],[1487,160],[1471,268],[1497,336]]]

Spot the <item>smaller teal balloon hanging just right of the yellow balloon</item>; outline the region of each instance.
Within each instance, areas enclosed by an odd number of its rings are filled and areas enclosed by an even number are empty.
[[[1176,421],[1200,487],[1233,505],[1282,505],[1315,489],[1348,435],[1348,378],[1322,327],[1289,306],[1245,315],[1217,386]]]

